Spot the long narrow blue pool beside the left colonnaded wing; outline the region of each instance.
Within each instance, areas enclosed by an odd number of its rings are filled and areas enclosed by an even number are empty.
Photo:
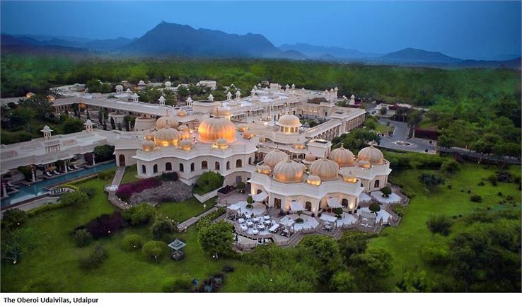
[[[20,191],[9,195],[9,197],[6,199],[2,199],[1,207],[8,206],[10,204],[16,204],[18,202],[23,202],[24,200],[45,194],[46,192],[48,192],[47,190],[45,190],[45,187],[48,187],[50,185],[57,185],[67,180],[83,177],[86,175],[91,175],[93,173],[98,173],[100,170],[114,168],[115,166],[116,164],[114,162],[102,163],[92,168],[83,168],[82,170],[78,170],[77,172],[67,173],[59,177],[43,180],[33,185],[19,185]]]

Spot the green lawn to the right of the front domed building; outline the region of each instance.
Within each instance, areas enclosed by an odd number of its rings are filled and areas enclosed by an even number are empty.
[[[488,169],[485,169],[488,168]],[[496,187],[489,181],[484,180],[488,175],[497,170],[495,166],[482,166],[475,163],[465,163],[463,168],[453,177],[446,178],[443,186],[434,188],[431,192],[424,190],[422,183],[419,183],[418,176],[421,173],[438,173],[440,170],[393,170],[393,177],[402,183],[412,187],[417,194],[405,207],[405,214],[402,216],[398,227],[383,228],[381,234],[372,238],[369,248],[384,248],[393,256],[395,279],[397,281],[405,269],[419,267],[429,272],[429,267],[425,267],[419,259],[419,251],[424,243],[428,241],[445,241],[448,238],[436,235],[432,236],[426,226],[426,221],[433,214],[445,214],[446,216],[458,216],[460,214],[470,214],[477,209],[492,210],[509,208],[512,204],[499,204],[506,195],[514,197],[517,207],[520,209],[521,194],[518,185],[514,183],[499,183]],[[519,174],[520,166],[511,166],[511,173]],[[485,185],[479,186],[483,181]],[[448,185],[452,189],[448,189]],[[461,192],[463,190],[464,192]],[[471,191],[468,194],[468,190]],[[504,196],[497,195],[502,192]],[[480,195],[481,203],[470,201],[470,195]],[[458,227],[458,225],[454,226]],[[431,272],[435,273],[435,272]]]

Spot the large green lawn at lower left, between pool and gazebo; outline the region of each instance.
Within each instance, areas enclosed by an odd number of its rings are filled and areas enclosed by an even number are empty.
[[[187,275],[203,281],[224,265],[236,268],[236,272],[226,273],[224,291],[244,291],[242,278],[253,268],[239,260],[212,260],[205,255],[197,242],[195,226],[187,233],[174,233],[168,240],[185,238],[185,259],[180,261],[170,260],[166,255],[160,262],[149,262],[141,250],[127,252],[122,248],[122,238],[127,234],[137,233],[144,241],[151,240],[149,226],[129,226],[109,238],[93,241],[88,247],[76,247],[71,236],[74,228],[115,210],[103,192],[106,184],[103,180],[81,183],[80,187],[96,190],[88,204],[42,212],[28,219],[22,229],[31,246],[25,245],[16,265],[2,261],[1,291],[24,291],[30,284],[45,282],[57,292],[157,292],[162,291],[168,278]],[[108,259],[94,270],[81,270],[79,258],[97,244],[108,250]]]

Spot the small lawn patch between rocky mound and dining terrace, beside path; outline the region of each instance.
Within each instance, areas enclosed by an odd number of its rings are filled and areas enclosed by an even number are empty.
[[[203,208],[203,204],[199,200],[191,197],[184,202],[162,202],[156,206],[156,210],[168,216],[169,219],[181,223],[214,207],[216,199],[211,198],[205,204],[206,207]]]

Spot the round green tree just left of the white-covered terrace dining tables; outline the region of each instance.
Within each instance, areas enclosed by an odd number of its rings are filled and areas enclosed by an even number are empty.
[[[233,234],[226,221],[219,221],[200,228],[197,232],[199,244],[209,255],[231,255],[233,253]]]

